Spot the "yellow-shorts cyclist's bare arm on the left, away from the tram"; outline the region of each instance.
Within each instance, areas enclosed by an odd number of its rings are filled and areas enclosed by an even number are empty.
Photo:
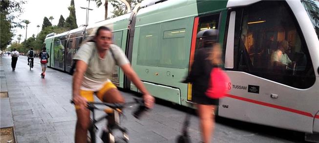
[[[79,105],[81,107],[86,105],[87,100],[80,95],[80,86],[82,80],[84,78],[84,73],[87,69],[87,64],[82,60],[77,60],[76,69],[73,74],[73,82],[72,82],[72,98],[75,105]]]

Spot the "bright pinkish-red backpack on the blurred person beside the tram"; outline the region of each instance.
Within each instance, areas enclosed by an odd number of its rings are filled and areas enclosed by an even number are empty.
[[[213,68],[210,77],[206,96],[215,99],[224,97],[230,90],[227,88],[227,84],[231,83],[228,75],[220,68]]]

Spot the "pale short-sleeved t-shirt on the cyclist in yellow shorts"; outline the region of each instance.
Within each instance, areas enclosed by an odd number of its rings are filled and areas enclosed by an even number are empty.
[[[120,47],[111,44],[110,50],[106,51],[104,58],[100,58],[95,42],[86,42],[81,45],[73,57],[73,59],[82,60],[87,64],[80,89],[93,91],[101,89],[106,82],[110,82],[109,79],[115,65],[122,66],[129,63]]]

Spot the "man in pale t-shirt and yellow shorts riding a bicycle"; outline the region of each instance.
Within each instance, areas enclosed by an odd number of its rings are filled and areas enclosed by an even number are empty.
[[[120,66],[126,76],[144,94],[146,107],[151,108],[154,104],[154,97],[149,94],[133,71],[124,52],[112,44],[112,37],[109,28],[99,27],[94,38],[82,44],[73,57],[76,60],[76,68],[73,74],[72,96],[78,119],[75,143],[87,143],[90,111],[85,107],[87,101],[94,100],[94,93],[103,102],[125,102],[119,90],[109,80],[115,65]]]

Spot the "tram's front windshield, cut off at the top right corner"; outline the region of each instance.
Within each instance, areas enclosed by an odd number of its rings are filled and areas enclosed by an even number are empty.
[[[318,0],[301,0],[304,8],[307,11],[309,18],[316,30],[319,39],[319,1]]]

